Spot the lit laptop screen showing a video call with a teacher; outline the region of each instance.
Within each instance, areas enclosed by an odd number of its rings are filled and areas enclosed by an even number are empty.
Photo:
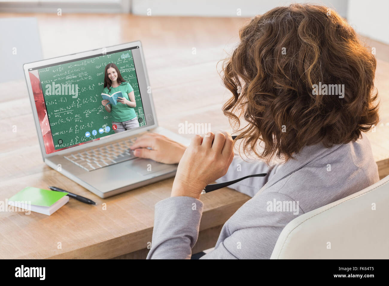
[[[135,63],[137,46],[28,69],[47,154],[146,125]]]

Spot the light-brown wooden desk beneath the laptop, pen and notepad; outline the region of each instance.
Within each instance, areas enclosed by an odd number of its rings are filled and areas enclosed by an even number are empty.
[[[37,16],[45,58],[142,40],[159,124],[173,132],[186,120],[210,123],[214,130],[230,129],[221,112],[230,95],[221,85],[216,63],[224,58],[223,49],[231,51],[245,19],[0,14],[15,16]],[[389,174],[389,63],[379,58],[387,46],[378,46],[383,126],[368,136],[383,177]],[[154,204],[170,196],[173,179],[107,199],[95,196],[42,162],[24,79],[2,83],[0,90],[12,91],[0,97],[0,201],[26,186],[53,185],[99,204],[70,199],[51,216],[0,212],[0,258],[145,258]],[[249,197],[225,188],[201,199],[204,212],[194,253],[215,245],[221,226]]]

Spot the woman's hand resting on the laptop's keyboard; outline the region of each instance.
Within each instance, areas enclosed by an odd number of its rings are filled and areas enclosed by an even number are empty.
[[[165,164],[178,164],[186,146],[166,136],[149,132],[139,137],[130,149],[134,150],[133,154],[140,158],[148,158]]]

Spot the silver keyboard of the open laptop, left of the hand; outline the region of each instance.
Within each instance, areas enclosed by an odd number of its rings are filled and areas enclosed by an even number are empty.
[[[87,171],[93,171],[99,168],[121,163],[127,160],[135,159],[130,146],[137,137],[132,137],[120,142],[103,147],[89,149],[78,153],[68,154],[65,159]]]

